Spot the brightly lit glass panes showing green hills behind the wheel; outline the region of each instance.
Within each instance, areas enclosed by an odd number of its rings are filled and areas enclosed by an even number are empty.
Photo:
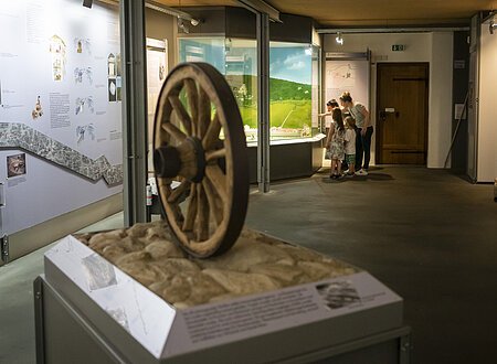
[[[255,40],[179,39],[180,62],[207,62],[230,84],[247,141],[257,140],[257,49]],[[320,49],[271,42],[271,140],[310,138],[318,130]]]

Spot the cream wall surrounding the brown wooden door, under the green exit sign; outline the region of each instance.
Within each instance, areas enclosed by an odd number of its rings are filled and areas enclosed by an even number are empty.
[[[377,115],[377,63],[430,63],[427,167],[443,168],[451,143],[453,34],[442,32],[345,34],[343,45],[337,44],[335,36],[335,34],[325,35],[325,52],[364,52],[367,49],[371,50],[370,111],[373,126],[376,126]],[[403,52],[392,52],[392,44],[403,44],[406,49]],[[432,97],[433,95],[436,95],[436,97]],[[435,103],[432,103],[432,99]],[[376,138],[373,135],[371,146],[373,162],[374,149]]]

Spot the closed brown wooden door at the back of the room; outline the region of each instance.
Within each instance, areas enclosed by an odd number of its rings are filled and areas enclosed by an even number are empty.
[[[427,63],[379,63],[377,163],[425,164]]]

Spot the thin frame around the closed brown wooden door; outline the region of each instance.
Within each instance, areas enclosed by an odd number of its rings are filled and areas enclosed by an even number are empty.
[[[425,93],[425,109],[424,109],[424,165],[427,165],[427,144],[429,144],[429,116],[430,116],[430,62],[378,62],[377,63],[377,90],[376,90],[376,138],[374,138],[374,162],[376,164],[384,164],[382,160],[382,126],[380,122],[380,68],[383,66],[424,66],[426,72],[426,93]]]

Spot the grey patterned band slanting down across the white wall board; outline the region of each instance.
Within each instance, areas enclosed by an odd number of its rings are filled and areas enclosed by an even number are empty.
[[[105,156],[91,159],[24,124],[0,122],[0,148],[23,149],[94,182],[123,183],[123,164],[110,165]]]

